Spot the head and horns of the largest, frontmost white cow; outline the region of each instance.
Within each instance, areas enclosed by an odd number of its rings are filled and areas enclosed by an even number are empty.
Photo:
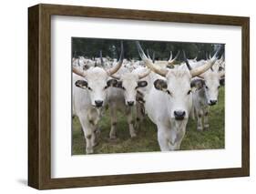
[[[203,66],[191,69],[189,66],[189,61],[186,58],[187,69],[179,66],[174,69],[169,68],[160,68],[152,63],[150,59],[144,54],[141,46],[137,42],[138,53],[142,60],[145,62],[146,66],[150,68],[155,73],[159,74],[163,79],[157,79],[154,82],[156,89],[164,92],[167,95],[167,101],[165,106],[168,107],[168,114],[171,119],[183,120],[184,118],[189,117],[189,111],[192,104],[191,88],[190,88],[190,79],[191,77],[197,77],[200,74],[207,71],[217,60],[217,54],[220,52],[220,49],[216,54],[210,59],[210,61]],[[157,99],[156,99],[157,100]]]

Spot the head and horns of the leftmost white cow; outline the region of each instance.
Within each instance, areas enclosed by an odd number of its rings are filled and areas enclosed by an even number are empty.
[[[103,61],[101,62],[101,65],[103,66]],[[107,88],[118,84],[118,80],[108,78],[118,71],[122,66],[122,62],[123,46],[121,44],[121,54],[118,63],[108,70],[102,67],[92,66],[86,71],[83,71],[80,68],[73,66],[73,72],[78,76],[84,77],[84,79],[77,80],[75,85],[77,87],[87,89],[92,106],[102,107],[104,105],[107,97]]]

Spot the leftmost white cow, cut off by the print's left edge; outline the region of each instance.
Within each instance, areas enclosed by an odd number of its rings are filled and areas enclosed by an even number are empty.
[[[73,114],[77,115],[84,131],[87,143],[87,154],[93,153],[96,145],[97,123],[106,104],[108,87],[116,85],[116,79],[109,79],[115,74],[123,60],[123,46],[116,66],[105,70],[101,67],[90,67],[87,71],[73,66]]]

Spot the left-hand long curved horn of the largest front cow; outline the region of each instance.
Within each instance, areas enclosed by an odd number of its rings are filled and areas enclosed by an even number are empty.
[[[146,66],[148,66],[148,68],[151,69],[152,71],[154,71],[156,74],[159,74],[162,77],[166,77],[166,75],[168,73],[168,70],[167,69],[162,69],[159,66],[154,65],[152,63],[152,61],[150,59],[148,59],[148,57],[145,55],[142,47],[139,45],[139,42],[136,41],[135,43],[136,43],[136,46],[138,48],[138,55],[144,61]]]

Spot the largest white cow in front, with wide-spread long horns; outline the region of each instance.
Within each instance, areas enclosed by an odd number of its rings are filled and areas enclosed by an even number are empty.
[[[138,52],[146,66],[161,77],[155,77],[154,87],[145,96],[148,117],[158,128],[161,151],[180,148],[192,106],[190,79],[207,71],[217,60],[217,54],[204,66],[191,70],[183,68],[159,68],[144,54],[137,42]]]

